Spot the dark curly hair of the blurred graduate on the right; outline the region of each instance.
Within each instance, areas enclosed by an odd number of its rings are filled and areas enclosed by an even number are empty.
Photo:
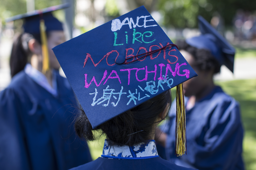
[[[213,70],[214,74],[220,72],[221,65],[209,50],[192,47],[185,40],[177,40],[176,45],[179,47],[179,50],[183,49],[194,57],[196,66],[201,71]]]

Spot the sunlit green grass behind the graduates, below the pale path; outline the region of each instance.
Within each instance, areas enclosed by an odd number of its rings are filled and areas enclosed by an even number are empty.
[[[241,119],[245,136],[243,141],[243,159],[247,170],[256,169],[256,79],[218,81],[217,85],[234,97],[241,106]],[[172,89],[172,99],[176,90]],[[95,160],[102,154],[105,137],[98,141],[90,142],[89,148],[92,158]]]

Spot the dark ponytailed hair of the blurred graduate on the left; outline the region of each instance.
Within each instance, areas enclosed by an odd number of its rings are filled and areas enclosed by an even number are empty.
[[[28,41],[32,38],[41,44],[40,34],[22,33],[14,37],[10,57],[11,77],[24,69],[28,57],[32,55],[28,48]]]

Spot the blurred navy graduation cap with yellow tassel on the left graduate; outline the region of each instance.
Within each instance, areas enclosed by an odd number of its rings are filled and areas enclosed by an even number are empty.
[[[42,55],[43,55],[43,70],[45,73],[50,68],[48,47],[47,47],[47,36],[46,32],[52,30],[63,30],[62,23],[57,20],[53,15],[52,11],[69,7],[69,3],[56,5],[41,10],[31,11],[25,14],[15,15],[13,17],[7,18],[5,21],[10,22],[18,19],[23,19],[24,23],[22,27],[25,33],[30,33],[32,35],[41,35],[41,45],[42,45]]]

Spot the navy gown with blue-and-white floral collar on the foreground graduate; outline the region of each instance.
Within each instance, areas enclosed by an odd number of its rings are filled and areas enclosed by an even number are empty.
[[[137,146],[110,146],[105,140],[102,157],[71,170],[193,170],[158,156],[154,140]]]

